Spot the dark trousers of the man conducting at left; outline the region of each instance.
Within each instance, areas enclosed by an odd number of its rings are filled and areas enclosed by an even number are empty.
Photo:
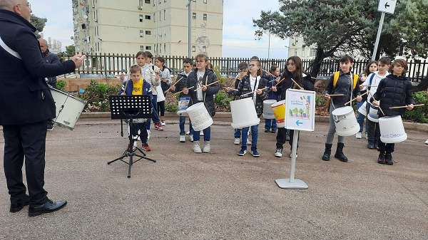
[[[48,192],[44,189],[46,127],[46,121],[3,126],[4,175],[11,203],[18,202],[26,194],[22,180],[24,156],[30,206],[48,201]]]

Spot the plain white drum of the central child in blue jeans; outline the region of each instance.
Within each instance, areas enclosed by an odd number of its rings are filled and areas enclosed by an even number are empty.
[[[232,112],[233,128],[251,127],[260,123],[252,98],[231,101],[230,112]]]

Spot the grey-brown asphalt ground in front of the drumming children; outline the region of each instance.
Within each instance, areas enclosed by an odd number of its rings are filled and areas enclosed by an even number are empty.
[[[236,155],[230,119],[215,119],[212,152],[195,154],[178,142],[178,118],[168,118],[149,141],[158,162],[136,162],[128,179],[128,165],[106,164],[126,149],[118,120],[55,127],[46,189],[68,205],[32,218],[28,207],[9,213],[1,172],[0,239],[428,239],[428,132],[407,130],[392,166],[355,137],[345,140],[350,162],[324,162],[327,123],[317,122],[301,132],[295,178],[309,188],[297,190],[275,184],[289,177],[288,146],[274,157],[275,135],[259,130],[258,158]],[[1,137],[1,159],[3,148]]]

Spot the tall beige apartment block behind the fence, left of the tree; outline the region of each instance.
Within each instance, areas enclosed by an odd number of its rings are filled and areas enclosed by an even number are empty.
[[[188,56],[188,0],[72,0],[77,52]],[[221,57],[223,1],[190,0],[191,53]]]

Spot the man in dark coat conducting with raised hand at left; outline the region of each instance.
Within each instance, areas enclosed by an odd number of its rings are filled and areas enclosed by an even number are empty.
[[[29,216],[37,216],[67,203],[52,202],[44,189],[46,121],[55,118],[54,99],[44,78],[73,72],[84,56],[56,64],[43,61],[30,14],[26,0],[0,0],[0,125],[10,212],[29,204]],[[24,157],[29,195],[22,177]]]

